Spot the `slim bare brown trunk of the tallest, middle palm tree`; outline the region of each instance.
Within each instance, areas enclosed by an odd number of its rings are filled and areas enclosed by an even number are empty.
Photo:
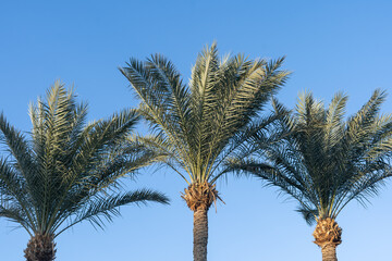
[[[194,261],[207,261],[208,210],[198,208],[194,211]]]

